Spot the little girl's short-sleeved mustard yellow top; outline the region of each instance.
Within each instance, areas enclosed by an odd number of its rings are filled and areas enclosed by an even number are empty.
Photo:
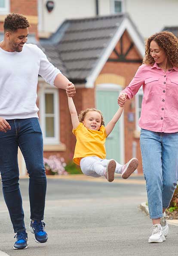
[[[106,130],[102,125],[98,131],[87,129],[83,123],[80,123],[72,132],[76,136],[77,142],[74,151],[73,161],[80,165],[83,157],[106,158],[105,141]]]

